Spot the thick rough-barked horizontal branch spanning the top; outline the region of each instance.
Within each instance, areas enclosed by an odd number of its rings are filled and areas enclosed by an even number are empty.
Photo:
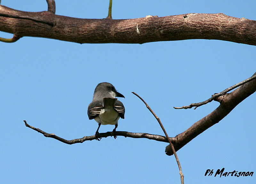
[[[77,19],[51,12],[23,12],[0,5],[0,31],[18,37],[45,37],[81,44],[216,39],[256,45],[255,20],[223,13],[112,20]]]

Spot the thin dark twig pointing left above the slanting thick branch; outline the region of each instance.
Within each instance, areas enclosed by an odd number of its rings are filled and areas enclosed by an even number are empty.
[[[212,95],[211,98],[209,98],[208,100],[205,100],[205,101],[203,101],[203,102],[191,103],[191,104],[188,105],[188,106],[173,107],[173,108],[175,108],[175,109],[183,109],[183,108],[184,108],[184,109],[188,109],[188,108],[195,107],[194,109],[196,109],[196,108],[198,108],[198,107],[200,107],[200,106],[202,106],[202,105],[205,105],[205,104],[211,102],[211,101],[214,100],[215,98],[217,98],[217,97],[219,97],[219,96],[222,96],[222,95],[226,94],[227,92],[229,92],[229,91],[231,91],[231,90],[233,90],[233,89],[235,89],[235,88],[237,88],[237,87],[239,87],[239,86],[241,86],[241,85],[243,85],[243,84],[245,84],[245,83],[248,83],[249,81],[251,81],[251,80],[253,80],[253,79],[255,79],[255,78],[256,78],[256,76],[251,76],[251,77],[249,77],[248,79],[245,79],[245,80],[243,80],[242,82],[237,83],[237,84],[235,84],[235,85],[233,85],[233,86],[231,86],[231,87],[225,89],[225,90],[222,91],[222,92],[215,93],[214,95]]]

